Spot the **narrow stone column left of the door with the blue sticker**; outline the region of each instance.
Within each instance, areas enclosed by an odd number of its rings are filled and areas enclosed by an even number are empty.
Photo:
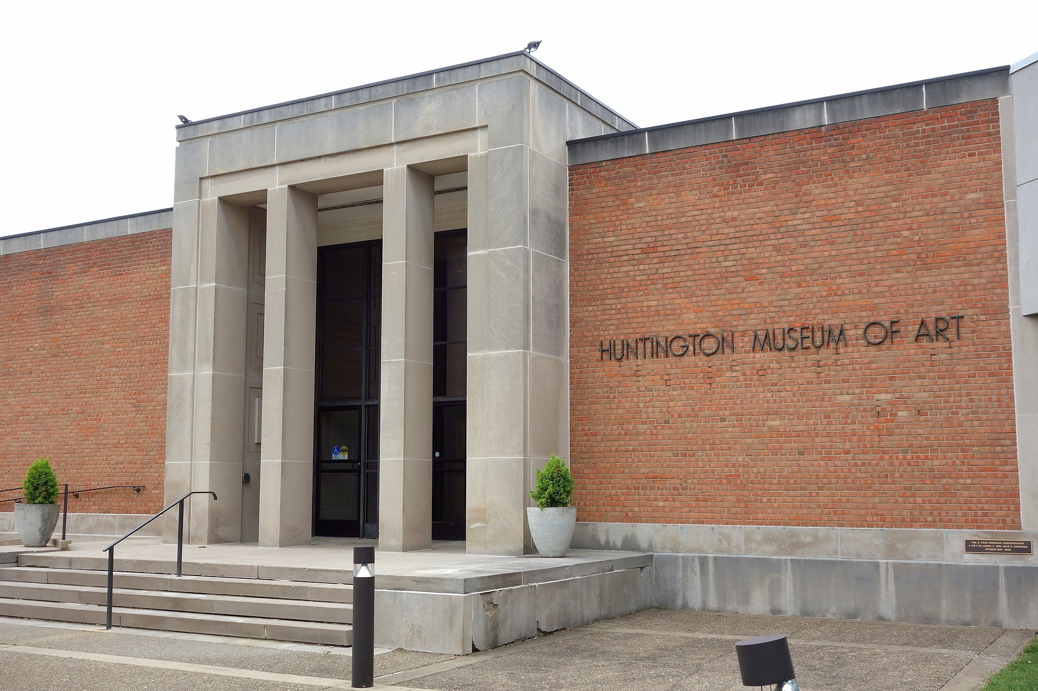
[[[267,192],[260,544],[308,545],[313,503],[318,199]]]

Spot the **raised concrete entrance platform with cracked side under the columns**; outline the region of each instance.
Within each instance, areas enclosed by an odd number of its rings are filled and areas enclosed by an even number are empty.
[[[105,570],[108,542],[78,542],[63,552],[25,554],[20,567]],[[184,573],[236,579],[350,583],[353,546],[375,541],[315,539],[289,548],[210,545],[184,548]],[[377,545],[376,545],[377,547]],[[168,574],[175,545],[128,540],[115,569]],[[376,632],[380,647],[468,654],[653,606],[653,555],[571,550],[563,558],[482,556],[464,543],[419,552],[376,549]],[[243,588],[244,588],[243,580]]]

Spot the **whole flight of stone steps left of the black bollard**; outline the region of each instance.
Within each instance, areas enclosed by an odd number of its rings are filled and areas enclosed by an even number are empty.
[[[59,568],[49,554],[20,555],[0,568],[0,616],[104,626],[100,562]],[[348,583],[116,571],[112,626],[350,645],[352,602]]]

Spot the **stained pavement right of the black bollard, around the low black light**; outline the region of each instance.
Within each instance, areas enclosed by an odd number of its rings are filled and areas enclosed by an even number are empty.
[[[951,691],[962,683],[976,689],[1034,635],[977,627],[654,609],[461,658],[466,664],[449,669],[448,664],[437,665],[428,675],[420,675],[424,670],[418,668],[393,678],[443,691],[631,686],[735,691],[745,688],[735,642],[766,633],[789,635],[800,685],[815,691]],[[480,656],[487,657],[476,661]],[[967,665],[972,673],[962,674]]]

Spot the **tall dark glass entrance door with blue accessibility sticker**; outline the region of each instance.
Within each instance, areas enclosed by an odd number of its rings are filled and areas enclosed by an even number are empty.
[[[313,535],[378,537],[381,241],[320,248]]]

